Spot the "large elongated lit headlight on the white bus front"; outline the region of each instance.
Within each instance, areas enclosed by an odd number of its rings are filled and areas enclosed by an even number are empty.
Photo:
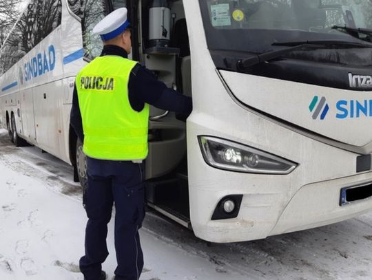
[[[243,144],[211,136],[198,136],[207,164],[247,173],[288,174],[298,164]]]

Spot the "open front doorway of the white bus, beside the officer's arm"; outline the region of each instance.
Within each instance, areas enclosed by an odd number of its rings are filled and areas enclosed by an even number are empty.
[[[142,1],[141,9],[140,61],[167,87],[191,96],[183,1]],[[150,108],[145,169],[147,203],[189,227],[186,123],[178,120],[174,112]]]

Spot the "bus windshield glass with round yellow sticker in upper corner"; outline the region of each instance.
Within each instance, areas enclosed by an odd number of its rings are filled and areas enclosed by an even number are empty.
[[[209,50],[266,52],[273,43],[291,41],[372,42],[371,0],[200,0],[200,8]]]

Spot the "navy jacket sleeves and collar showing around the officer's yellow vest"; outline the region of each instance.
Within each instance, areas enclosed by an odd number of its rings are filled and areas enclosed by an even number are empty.
[[[105,45],[101,56],[116,55],[127,58],[127,52],[116,45]],[[130,105],[135,111],[141,111],[145,103],[154,105],[159,109],[176,111],[183,116],[189,116],[192,111],[192,98],[169,89],[165,83],[156,80],[156,77],[146,67],[137,64],[130,73],[128,83],[128,96]],[[83,123],[76,86],[72,98],[70,125],[74,128],[77,136],[84,139]]]

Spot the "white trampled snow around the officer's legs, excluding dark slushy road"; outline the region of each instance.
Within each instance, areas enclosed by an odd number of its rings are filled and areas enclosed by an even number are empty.
[[[52,184],[56,177],[49,171],[35,178],[37,165],[25,162],[0,155],[0,279],[83,279],[77,266],[87,222],[81,202],[59,193],[63,184]],[[151,230],[141,230],[141,239],[145,254],[141,279],[244,279],[236,272],[220,274],[208,260],[158,239]],[[112,234],[107,243],[111,256],[104,269],[111,276],[115,267]]]

